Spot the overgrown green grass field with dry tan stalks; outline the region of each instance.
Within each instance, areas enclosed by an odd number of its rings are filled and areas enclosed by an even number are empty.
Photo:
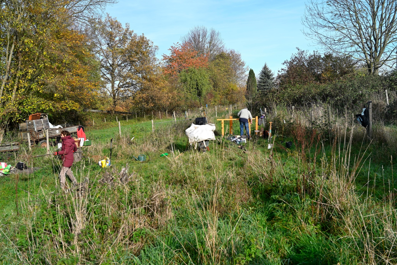
[[[0,177],[0,264],[397,263],[391,141],[362,143],[357,125],[326,135],[287,123],[273,149],[217,136],[198,153],[185,150],[189,122],[152,133],[148,120],[123,120],[121,137],[114,121],[87,128],[93,145],[73,165],[82,192],[59,189],[57,158],[20,151],[40,170]]]

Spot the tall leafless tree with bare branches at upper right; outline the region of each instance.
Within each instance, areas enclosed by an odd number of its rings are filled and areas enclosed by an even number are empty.
[[[395,60],[397,0],[310,0],[306,37],[325,50],[349,55],[378,75]]]

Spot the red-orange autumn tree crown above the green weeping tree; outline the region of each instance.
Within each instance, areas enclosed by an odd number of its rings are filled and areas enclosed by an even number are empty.
[[[199,54],[190,43],[177,43],[168,50],[170,55],[163,54],[164,74],[176,77],[187,68],[208,67],[206,55]]]

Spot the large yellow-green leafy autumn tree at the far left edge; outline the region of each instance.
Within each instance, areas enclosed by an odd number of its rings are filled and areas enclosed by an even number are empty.
[[[62,119],[93,106],[98,64],[65,2],[3,1],[2,7],[2,124],[35,112]]]

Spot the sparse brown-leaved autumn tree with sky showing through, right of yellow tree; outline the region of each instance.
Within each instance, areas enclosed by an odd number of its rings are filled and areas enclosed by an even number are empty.
[[[93,23],[91,38],[114,113],[119,102],[132,97],[154,73],[158,48],[110,15]]]

